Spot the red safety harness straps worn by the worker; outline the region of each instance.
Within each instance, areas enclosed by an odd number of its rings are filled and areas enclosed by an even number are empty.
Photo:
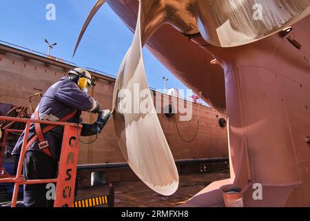
[[[66,115],[65,117],[59,119],[57,122],[67,122],[69,119],[74,117],[76,115],[76,113],[77,113],[77,111],[73,111],[69,115]],[[34,119],[38,119],[39,120],[39,111],[34,112]],[[31,146],[31,144],[33,144],[34,142],[39,140],[39,148],[40,148],[40,150],[43,151],[43,153],[45,153],[46,155],[52,157],[55,160],[55,157],[50,152],[48,141],[46,141],[44,139],[44,136],[43,136],[44,133],[47,133],[48,131],[51,131],[55,127],[56,127],[56,125],[48,125],[45,128],[43,128],[43,130],[42,130],[40,123],[34,123],[34,129],[35,129],[37,135],[34,135],[34,137],[32,137],[30,139],[30,141],[27,143],[27,145],[26,145],[26,152],[28,151],[28,148]]]

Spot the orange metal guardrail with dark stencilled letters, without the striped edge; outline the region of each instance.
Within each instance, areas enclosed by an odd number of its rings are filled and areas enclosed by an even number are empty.
[[[79,157],[79,140],[77,139],[77,124],[67,122],[49,122],[36,119],[24,119],[16,117],[0,117],[0,121],[5,122],[24,122],[25,133],[23,137],[23,145],[19,157],[17,174],[0,178],[0,183],[14,183],[14,192],[12,195],[12,207],[16,207],[19,186],[23,184],[49,184],[56,183],[56,191],[54,193],[54,207],[73,207],[74,189],[76,180],[76,166]],[[26,145],[28,142],[30,126],[32,123],[45,125],[63,126],[63,142],[61,145],[61,157],[59,160],[58,175],[54,179],[45,180],[25,180],[22,175],[23,162],[25,159]],[[8,133],[19,133],[20,130],[4,129],[4,135]],[[79,130],[81,131],[81,130]],[[1,146],[3,148],[3,146]],[[5,147],[4,147],[5,148]],[[2,150],[1,150],[2,153]],[[0,155],[2,158],[3,155]],[[2,159],[1,159],[2,161]]]

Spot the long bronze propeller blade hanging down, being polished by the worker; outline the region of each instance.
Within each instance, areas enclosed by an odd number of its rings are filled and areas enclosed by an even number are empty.
[[[114,86],[114,128],[121,151],[134,173],[157,193],[172,195],[178,189],[178,170],[145,76],[141,41],[145,19],[141,16],[141,8],[140,1],[134,40]],[[136,101],[140,101],[138,113],[129,108]]]

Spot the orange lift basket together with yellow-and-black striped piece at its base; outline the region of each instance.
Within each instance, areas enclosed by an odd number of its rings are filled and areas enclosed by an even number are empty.
[[[24,110],[23,113],[26,113]],[[83,202],[85,200],[74,202],[74,193],[75,193],[75,184],[76,184],[76,170],[79,157],[79,140],[77,137],[77,124],[67,123],[67,122],[49,122],[28,118],[18,117],[1,117],[0,122],[10,122],[7,126],[1,129],[1,143],[0,143],[0,184],[1,183],[14,183],[14,191],[12,194],[12,207],[17,206],[17,198],[19,193],[19,186],[23,184],[56,184],[55,194],[54,194],[54,207],[84,207]],[[25,136],[23,138],[23,145],[21,148],[21,155],[19,157],[17,174],[10,175],[2,167],[3,155],[6,148],[6,140],[9,133],[22,133],[23,130],[10,129],[10,125],[14,122],[23,122],[25,123]],[[63,126],[63,142],[61,146],[61,157],[59,161],[59,172],[56,178],[48,180],[25,180],[22,175],[23,170],[23,161],[25,158],[25,148],[28,142],[29,130],[31,123],[39,123],[50,126]],[[81,130],[79,130],[81,131]],[[111,191],[113,190],[113,191]],[[97,206],[99,204],[108,204],[109,206],[114,206],[114,188],[110,184],[110,195],[108,195],[110,200],[107,200],[107,196],[100,196],[98,200],[96,198],[91,198],[92,203],[89,203],[88,206]],[[90,202],[90,199],[87,202]],[[113,202],[108,202],[113,200]],[[98,201],[98,202],[97,202]],[[86,205],[85,205],[86,207]]]

